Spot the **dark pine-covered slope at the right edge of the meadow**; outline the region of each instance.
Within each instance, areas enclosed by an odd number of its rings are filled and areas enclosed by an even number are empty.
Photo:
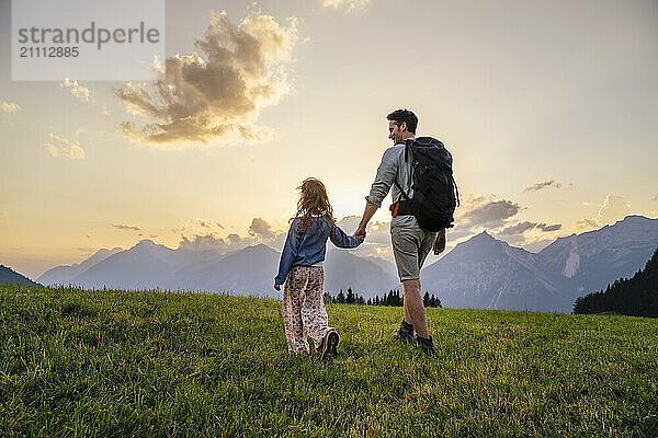
[[[579,297],[574,303],[574,313],[602,312],[658,318],[658,249],[633,278],[615,280],[605,291]]]

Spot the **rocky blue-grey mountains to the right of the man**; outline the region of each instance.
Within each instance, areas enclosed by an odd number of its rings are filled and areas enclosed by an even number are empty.
[[[538,253],[483,232],[421,273],[444,307],[570,312],[576,298],[631,277],[658,245],[658,219],[559,238]]]

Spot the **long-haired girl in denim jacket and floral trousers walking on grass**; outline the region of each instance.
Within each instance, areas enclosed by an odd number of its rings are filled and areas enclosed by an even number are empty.
[[[336,328],[328,326],[325,310],[322,261],[327,239],[339,247],[356,247],[364,237],[347,235],[333,218],[325,184],[306,178],[297,187],[300,191],[297,215],[291,219],[279,275],[274,289],[283,290],[283,321],[288,353],[308,353],[307,336],[314,342],[322,360],[336,356],[340,339]]]

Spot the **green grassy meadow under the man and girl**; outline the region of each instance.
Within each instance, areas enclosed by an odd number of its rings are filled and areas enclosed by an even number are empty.
[[[658,435],[658,321],[328,307],[340,357],[288,357],[273,300],[0,286],[0,436]]]

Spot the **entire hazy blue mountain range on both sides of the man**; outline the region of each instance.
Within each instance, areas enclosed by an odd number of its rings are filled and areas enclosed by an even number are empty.
[[[642,216],[559,238],[536,254],[483,232],[426,266],[422,289],[451,308],[570,312],[576,298],[633,276],[657,245],[658,219]],[[128,250],[100,250],[79,265],[53,268],[37,281],[280,297],[272,287],[279,257],[264,244],[220,254],[143,240]],[[325,290],[348,287],[370,298],[400,285],[392,264],[329,245]]]

